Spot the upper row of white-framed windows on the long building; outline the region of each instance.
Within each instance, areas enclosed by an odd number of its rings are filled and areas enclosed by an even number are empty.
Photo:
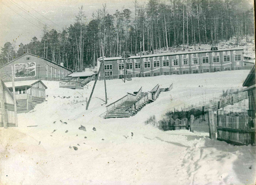
[[[230,62],[230,55],[224,55],[223,57],[224,62]],[[212,57],[213,63],[218,63],[220,61],[219,56],[213,56]],[[235,61],[241,61],[241,55],[235,55]],[[192,58],[192,64],[198,64],[199,58]],[[202,63],[209,63],[209,57],[202,57]],[[182,65],[188,65],[189,59],[188,58],[182,58]],[[127,69],[132,69],[132,63],[127,63]],[[178,66],[179,65],[179,59],[172,59],[172,65]],[[154,68],[160,67],[160,61],[154,61],[153,62]],[[163,67],[170,66],[169,60],[163,60]],[[140,68],[140,62],[135,62],[135,69]],[[144,68],[150,68],[150,61],[144,62]],[[112,64],[105,65],[105,70],[112,70]],[[124,69],[124,63],[118,64],[118,70]]]

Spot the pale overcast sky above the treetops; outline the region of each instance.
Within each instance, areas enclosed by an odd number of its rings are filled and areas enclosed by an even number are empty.
[[[27,44],[33,36],[41,40],[44,25],[39,20],[61,31],[75,22],[81,5],[89,22],[93,12],[105,3],[109,14],[123,7],[133,9],[133,0],[0,0],[0,47],[13,40],[17,46],[21,42]]]

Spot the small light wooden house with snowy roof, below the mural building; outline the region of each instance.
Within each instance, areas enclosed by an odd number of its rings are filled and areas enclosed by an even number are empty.
[[[12,92],[12,82],[5,82],[7,88]],[[19,103],[17,112],[28,112],[39,103],[45,101],[46,85],[41,80],[16,81],[15,97]]]

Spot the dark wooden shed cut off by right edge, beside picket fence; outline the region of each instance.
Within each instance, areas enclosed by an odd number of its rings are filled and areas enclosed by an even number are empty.
[[[243,86],[247,87],[244,89],[244,91],[247,91],[248,97],[249,97],[249,109],[248,109],[248,115],[251,117],[255,117],[256,113],[256,107],[255,107],[255,90],[256,90],[256,85],[255,85],[255,65],[253,65],[250,73],[246,77]]]

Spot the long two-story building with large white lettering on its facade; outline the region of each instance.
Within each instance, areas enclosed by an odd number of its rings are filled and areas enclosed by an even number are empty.
[[[102,57],[98,58],[98,66]],[[200,50],[176,53],[149,54],[128,58],[104,58],[107,79],[127,76],[148,77],[169,74],[207,73],[224,70],[239,70],[244,66],[243,49]],[[100,71],[103,79],[103,68]]]

